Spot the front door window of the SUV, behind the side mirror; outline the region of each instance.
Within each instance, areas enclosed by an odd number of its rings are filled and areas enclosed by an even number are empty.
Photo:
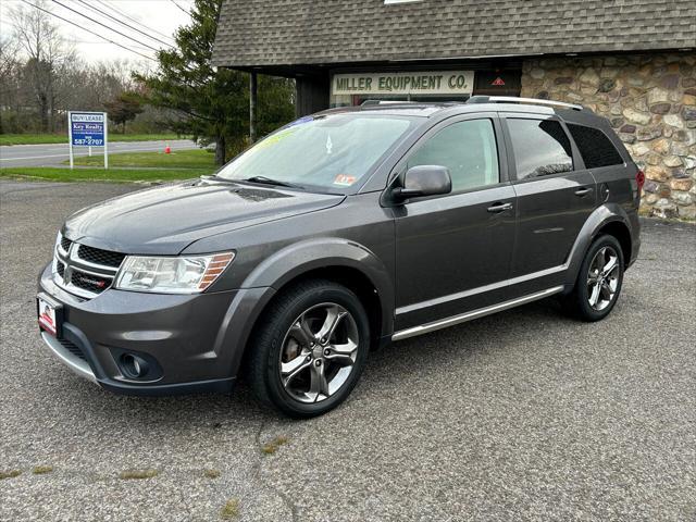
[[[409,159],[409,167],[418,165],[449,169],[453,192],[498,183],[498,147],[493,122],[469,120],[445,127]]]

